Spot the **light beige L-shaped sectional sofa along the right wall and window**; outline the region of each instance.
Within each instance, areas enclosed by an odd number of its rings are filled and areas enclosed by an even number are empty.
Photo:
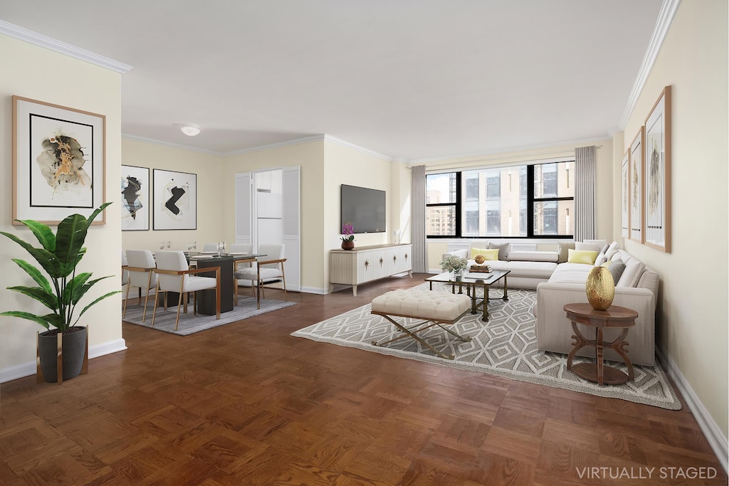
[[[617,246],[617,243],[613,243]],[[472,242],[474,248],[488,248],[488,243]],[[612,247],[611,247],[612,248]],[[615,286],[613,305],[628,307],[638,313],[636,325],[628,332],[628,356],[634,364],[653,366],[655,364],[655,307],[658,295],[658,273],[645,267],[627,251],[612,251],[612,261],[620,260],[625,270]],[[471,251],[459,249],[446,255],[469,258]],[[511,270],[507,283],[509,287],[536,289],[537,304],[534,306],[537,334],[537,348],[554,353],[569,354],[572,350],[572,324],[567,320],[564,305],[572,302],[588,302],[585,281],[592,270],[592,264],[560,262],[561,251],[507,251],[507,259],[486,262],[492,269]],[[581,326],[585,337],[594,339],[594,329]],[[613,340],[619,331],[606,330],[605,339]],[[594,348],[582,348],[579,356],[595,356]],[[605,358],[623,361],[613,350],[605,352]]]

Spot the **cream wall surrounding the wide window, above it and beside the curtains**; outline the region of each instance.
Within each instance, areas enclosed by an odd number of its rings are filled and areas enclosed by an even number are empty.
[[[521,150],[518,152],[506,152],[503,154],[490,154],[481,157],[461,157],[447,160],[438,160],[434,162],[425,162],[427,171],[449,171],[460,170],[462,168],[482,168],[489,166],[518,165],[524,162],[532,161],[549,161],[560,157],[574,157],[574,149],[580,145],[564,145],[550,147],[549,149],[531,149]],[[609,240],[613,238],[613,186],[616,184],[613,175],[613,144],[612,141],[596,141],[594,145],[598,148],[595,150],[595,167],[596,167],[596,184],[595,184],[595,238]],[[413,164],[416,165],[416,164]],[[619,234],[619,233],[618,233]],[[488,238],[479,238],[479,240],[488,240]],[[509,240],[509,238],[504,238]],[[539,240],[540,244],[548,245],[550,240],[544,238]],[[542,249],[542,248],[539,248]],[[546,248],[545,248],[546,249]],[[427,247],[426,268],[434,271],[440,269],[440,260],[443,253],[448,251],[448,240],[433,239],[429,240]]]

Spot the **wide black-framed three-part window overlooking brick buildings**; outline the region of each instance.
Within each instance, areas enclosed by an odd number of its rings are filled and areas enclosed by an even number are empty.
[[[574,234],[572,160],[429,174],[426,188],[429,237],[569,238]]]

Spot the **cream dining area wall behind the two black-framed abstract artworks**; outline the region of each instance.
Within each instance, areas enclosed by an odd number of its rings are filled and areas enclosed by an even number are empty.
[[[221,160],[221,157],[215,155],[122,138],[122,164],[149,168],[150,189],[154,180],[153,169],[194,173],[197,174],[198,183],[197,230],[153,230],[154,216],[151,208],[155,204],[155,197],[150,190],[149,231],[122,231],[123,248],[155,251],[160,248],[160,241],[164,240],[172,242],[171,250],[187,250],[188,241],[197,241],[198,250],[202,250],[205,243],[226,240],[227,225],[223,223],[225,220],[219,210],[222,202],[220,186],[223,180]],[[121,205],[112,211],[114,217],[120,212]],[[233,240],[227,238],[226,241]]]

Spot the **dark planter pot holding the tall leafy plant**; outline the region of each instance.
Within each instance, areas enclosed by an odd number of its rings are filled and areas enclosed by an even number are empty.
[[[87,329],[74,326],[73,332],[61,336],[63,381],[71,380],[81,373],[86,354]],[[41,361],[43,378],[47,383],[58,382],[58,336],[46,331],[38,335],[38,356]]]

